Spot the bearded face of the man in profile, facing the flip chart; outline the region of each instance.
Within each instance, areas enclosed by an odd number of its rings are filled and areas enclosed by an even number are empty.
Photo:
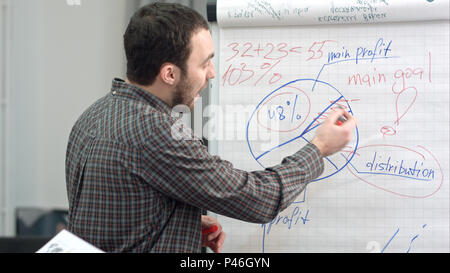
[[[175,87],[173,106],[187,105],[191,110],[200,92],[206,88],[208,80],[215,77],[214,43],[206,29],[201,29],[191,38],[191,55],[186,62],[186,73],[182,73]]]

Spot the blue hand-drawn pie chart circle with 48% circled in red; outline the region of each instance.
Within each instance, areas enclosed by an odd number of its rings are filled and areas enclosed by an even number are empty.
[[[309,143],[321,121],[337,107],[353,115],[349,100],[327,82],[297,79],[278,87],[258,103],[247,122],[251,156],[264,169],[278,165]],[[326,157],[324,173],[313,181],[329,178],[349,164],[359,143],[358,127],[354,130],[354,142]]]

